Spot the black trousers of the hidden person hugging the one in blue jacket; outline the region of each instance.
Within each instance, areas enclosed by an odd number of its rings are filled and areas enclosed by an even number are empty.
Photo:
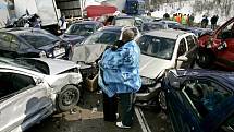
[[[103,93],[103,115],[104,121],[116,121],[118,113],[118,98],[116,96],[108,97],[106,93]]]

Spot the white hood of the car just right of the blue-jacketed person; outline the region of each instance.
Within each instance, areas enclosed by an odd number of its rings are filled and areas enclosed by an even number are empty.
[[[156,79],[161,72],[170,68],[172,68],[171,60],[164,60],[146,55],[140,55],[140,76]]]

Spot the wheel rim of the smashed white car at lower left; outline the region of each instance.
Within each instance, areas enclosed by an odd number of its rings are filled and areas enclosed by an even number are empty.
[[[76,93],[75,91],[71,91],[71,89],[66,91],[62,95],[62,104],[64,106],[70,106],[76,101],[77,96],[78,96],[78,93]]]

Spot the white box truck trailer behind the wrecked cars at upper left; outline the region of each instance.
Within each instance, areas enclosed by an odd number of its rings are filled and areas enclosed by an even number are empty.
[[[41,27],[57,33],[61,14],[66,17],[82,16],[82,0],[13,0],[16,19],[38,14]]]

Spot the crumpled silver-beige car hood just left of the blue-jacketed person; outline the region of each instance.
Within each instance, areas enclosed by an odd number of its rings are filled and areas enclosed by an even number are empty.
[[[106,48],[107,44],[77,46],[74,48],[72,61],[83,61],[86,63],[95,62],[97,59],[100,58]]]

